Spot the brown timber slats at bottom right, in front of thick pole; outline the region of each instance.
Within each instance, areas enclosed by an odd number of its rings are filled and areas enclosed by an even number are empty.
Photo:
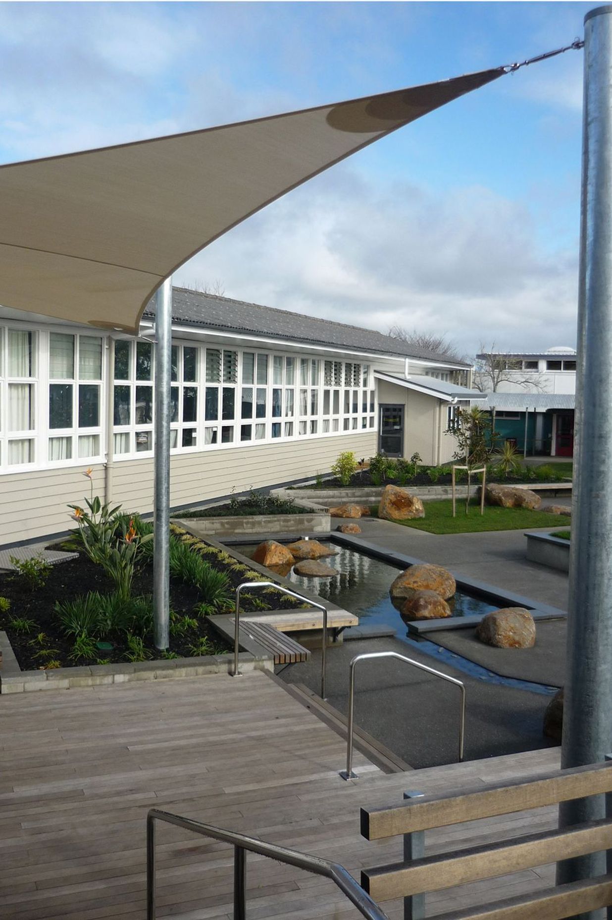
[[[380,840],[404,836],[403,862],[366,869],[361,884],[376,902],[404,898],[405,916],[425,916],[425,893],[612,848],[612,818],[561,830],[525,834],[497,843],[425,857],[426,830],[528,811],[612,790],[612,765],[560,770],[464,793],[420,796],[401,805],[361,810],[361,834]],[[412,857],[412,858],[408,858]],[[468,910],[436,914],[438,920],[561,920],[612,905],[612,874],[558,885]]]

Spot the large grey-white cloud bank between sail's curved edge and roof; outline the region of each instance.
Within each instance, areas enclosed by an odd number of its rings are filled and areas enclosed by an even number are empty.
[[[176,273],[227,296],[386,332],[393,324],[544,348],[575,338],[577,258],[538,244],[527,209],[474,187],[375,189],[347,167],[235,228]]]

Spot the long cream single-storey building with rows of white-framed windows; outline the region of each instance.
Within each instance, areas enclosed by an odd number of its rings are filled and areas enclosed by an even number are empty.
[[[153,303],[140,336],[0,307],[0,546],[64,532],[94,491],[153,509]],[[329,471],[341,451],[448,461],[465,362],[174,289],[171,507]],[[450,413],[450,414],[449,414]]]

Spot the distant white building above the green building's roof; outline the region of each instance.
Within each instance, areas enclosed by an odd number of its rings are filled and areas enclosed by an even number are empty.
[[[485,361],[484,353],[476,355]],[[495,353],[504,367],[504,377],[496,387],[498,393],[575,393],[576,350],[556,345],[548,351]],[[485,390],[489,387],[485,385]],[[493,387],[492,387],[493,388]]]

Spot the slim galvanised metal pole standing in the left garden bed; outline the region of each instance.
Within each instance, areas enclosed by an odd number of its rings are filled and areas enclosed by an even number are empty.
[[[155,418],[153,493],[153,641],[167,649],[170,604],[170,374],[172,279],[155,294]]]

